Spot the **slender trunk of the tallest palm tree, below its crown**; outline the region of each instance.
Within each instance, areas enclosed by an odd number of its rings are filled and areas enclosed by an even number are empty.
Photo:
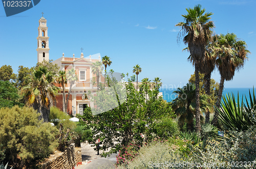
[[[200,93],[199,93],[199,71],[198,71],[198,61],[195,64],[195,75],[196,75],[196,130],[201,131],[200,124]]]

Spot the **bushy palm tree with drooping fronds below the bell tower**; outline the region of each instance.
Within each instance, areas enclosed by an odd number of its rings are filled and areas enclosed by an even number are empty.
[[[59,88],[54,86],[54,74],[46,67],[33,70],[32,76],[27,78],[27,85],[22,88],[26,104],[32,105],[39,114],[38,119],[49,122],[50,106]]]

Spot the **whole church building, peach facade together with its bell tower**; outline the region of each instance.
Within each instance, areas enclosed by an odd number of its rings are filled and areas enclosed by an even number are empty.
[[[48,37],[48,27],[47,20],[42,16],[39,19],[38,26],[38,37],[37,37],[37,62],[49,61],[49,37]],[[95,62],[101,62],[100,54],[90,55],[89,57],[83,57],[81,52],[79,58],[75,58],[75,54],[72,57],[65,57],[62,53],[62,57],[53,61],[53,64],[57,64],[60,70],[68,73],[68,70],[74,68],[78,80],[74,82],[71,87],[71,93],[68,100],[67,112],[70,115],[76,116],[76,114],[83,114],[84,108],[87,106],[93,107],[93,103],[87,99],[87,93],[89,91],[92,94],[96,93],[96,75],[92,73],[91,66]],[[94,80],[95,79],[95,80]],[[104,77],[101,75],[99,82],[104,82]],[[65,97],[67,100],[68,92],[70,90],[70,82],[65,86]],[[61,85],[56,83],[56,86],[60,88],[59,93],[56,96],[57,107],[63,110],[63,90]]]

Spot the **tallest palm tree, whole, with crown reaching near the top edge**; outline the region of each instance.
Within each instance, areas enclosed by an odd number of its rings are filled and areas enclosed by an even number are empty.
[[[194,9],[186,8],[187,15],[181,15],[184,17],[185,22],[179,22],[176,26],[181,26],[182,29],[179,33],[179,37],[183,37],[183,42],[188,45],[191,59],[195,65],[196,75],[196,129],[197,132],[201,131],[200,124],[200,94],[199,94],[199,70],[200,60],[204,60],[205,46],[211,39],[212,29],[214,23],[209,21],[212,13],[205,12],[205,9],[201,9],[201,5],[197,5]]]

